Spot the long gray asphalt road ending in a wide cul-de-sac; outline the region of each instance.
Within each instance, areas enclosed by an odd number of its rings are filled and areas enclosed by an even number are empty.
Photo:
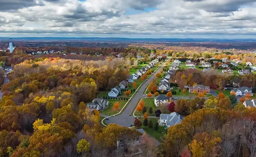
[[[154,72],[154,74],[141,85],[140,89],[137,91],[137,93],[135,93],[129,104],[127,104],[125,110],[118,116],[109,117],[109,119],[105,121],[106,124],[116,123],[121,126],[130,127],[130,124],[133,124],[134,122],[134,117],[132,116],[133,109],[141,98],[146,97],[144,90],[147,88],[148,84],[156,77],[156,74],[160,73],[164,66],[165,64],[162,64],[158,70],[156,70],[156,72]],[[129,116],[129,114],[131,114],[131,116]]]

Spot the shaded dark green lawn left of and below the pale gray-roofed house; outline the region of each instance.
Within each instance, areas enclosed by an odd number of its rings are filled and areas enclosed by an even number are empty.
[[[144,118],[139,118],[141,122],[143,123]],[[152,120],[153,126],[157,122],[158,118],[148,118],[148,121]],[[148,135],[154,137],[158,142],[162,143],[161,137],[164,137],[165,134],[167,134],[167,129],[165,129],[164,126],[158,126],[158,130],[155,130],[154,127],[151,129],[148,126],[142,126],[141,127]],[[163,133],[162,133],[163,132]]]

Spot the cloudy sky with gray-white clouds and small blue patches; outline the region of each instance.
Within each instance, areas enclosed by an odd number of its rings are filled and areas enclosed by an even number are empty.
[[[0,37],[256,38],[256,0],[0,0]]]

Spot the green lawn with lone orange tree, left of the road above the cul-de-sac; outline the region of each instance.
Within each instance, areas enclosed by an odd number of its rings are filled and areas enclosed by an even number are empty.
[[[109,115],[109,116],[113,115],[113,114],[116,114],[123,108],[123,106],[127,102],[126,100],[122,100],[122,101],[121,100],[108,100],[108,101],[109,101],[109,106],[107,108],[101,110],[100,114]],[[119,104],[120,104],[118,109],[113,109],[113,104],[115,102],[119,102]]]

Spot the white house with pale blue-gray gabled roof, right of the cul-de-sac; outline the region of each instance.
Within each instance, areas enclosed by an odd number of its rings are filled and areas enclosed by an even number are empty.
[[[172,112],[171,114],[160,114],[160,125],[164,124],[169,128],[172,125],[181,123],[183,119],[184,118],[176,112]]]

